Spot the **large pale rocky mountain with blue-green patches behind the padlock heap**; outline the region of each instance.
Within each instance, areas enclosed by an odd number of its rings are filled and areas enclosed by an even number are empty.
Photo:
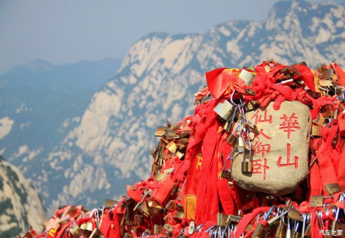
[[[47,157],[36,157],[35,168],[24,165],[27,174],[50,210],[103,204],[149,175],[155,129],[193,112],[193,94],[206,84],[199,78],[206,71],[270,58],[345,66],[344,24],[342,5],[293,0],[278,1],[261,22],[226,22],[206,34],[147,34],[62,142]]]

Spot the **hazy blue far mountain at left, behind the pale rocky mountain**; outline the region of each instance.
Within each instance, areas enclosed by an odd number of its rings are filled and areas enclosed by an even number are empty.
[[[30,181],[41,172],[36,170],[41,157],[78,124],[93,94],[120,63],[107,58],[57,66],[37,60],[1,74],[0,155]]]

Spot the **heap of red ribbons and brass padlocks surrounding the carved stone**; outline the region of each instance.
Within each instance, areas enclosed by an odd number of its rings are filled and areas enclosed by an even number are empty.
[[[284,66],[270,60],[256,67],[218,68],[207,72],[206,79],[207,87],[195,95],[194,115],[157,129],[155,136],[160,141],[151,151],[150,178],[128,185],[121,201],[106,200],[104,206],[93,210],[61,207],[45,224],[44,233],[36,235],[30,230],[25,236],[343,236],[343,69],[336,63],[311,69],[304,62]],[[262,188],[267,192],[253,189],[255,186],[240,186],[242,180],[234,180],[235,154],[243,155],[242,173],[254,179],[249,185],[256,183],[258,173],[262,183],[266,179],[262,178],[264,169],[270,168],[253,159],[269,150],[251,147],[263,134],[254,120],[246,118],[246,113],[257,108],[263,112],[270,104],[278,111],[284,101],[301,102],[310,111],[306,176],[288,193],[271,193],[270,186]],[[282,124],[284,132],[296,133],[299,128],[298,122],[292,121],[294,115],[285,116],[289,120]],[[276,139],[273,143],[279,145],[281,141]],[[287,157],[290,160],[289,152]],[[296,157],[292,169],[297,168]],[[302,167],[301,158],[298,168]],[[267,160],[270,162],[268,157]],[[277,169],[271,166],[271,170]]]

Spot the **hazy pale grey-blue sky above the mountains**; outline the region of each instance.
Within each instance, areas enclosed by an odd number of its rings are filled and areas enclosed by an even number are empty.
[[[120,58],[144,34],[205,33],[229,20],[260,21],[276,1],[0,0],[0,73],[36,59]]]

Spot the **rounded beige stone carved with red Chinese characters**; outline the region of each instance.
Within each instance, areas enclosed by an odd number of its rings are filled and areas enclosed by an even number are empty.
[[[242,172],[242,156],[232,166],[232,177],[245,190],[276,196],[293,192],[308,175],[311,113],[301,102],[271,102],[266,109],[246,113],[259,135],[252,142],[252,172]]]

